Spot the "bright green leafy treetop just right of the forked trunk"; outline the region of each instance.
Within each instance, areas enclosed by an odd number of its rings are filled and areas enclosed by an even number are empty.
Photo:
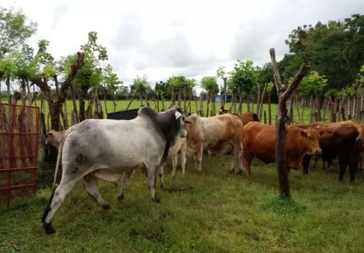
[[[293,78],[291,79],[291,82]],[[298,92],[306,98],[310,96],[320,96],[327,86],[327,79],[317,71],[311,71],[309,75],[303,77]]]

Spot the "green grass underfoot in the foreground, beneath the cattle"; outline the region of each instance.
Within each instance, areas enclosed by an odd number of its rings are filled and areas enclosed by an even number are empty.
[[[252,178],[231,174],[230,156],[204,157],[202,173],[188,157],[186,179],[171,179],[166,188],[193,186],[170,193],[159,188],[153,203],[147,178],[136,173],[125,199],[121,186],[100,182],[111,204],[105,212],[84,190],[82,180],[56,213],[54,235],[40,223],[50,190],[0,210],[0,252],[361,252],[364,248],[363,177],[324,173],[321,164],[309,175],[291,171],[293,199],[277,198],[275,164],[254,159]],[[337,165],[335,166],[337,167]],[[337,170],[337,168],[336,168]],[[11,246],[13,245],[13,247]]]

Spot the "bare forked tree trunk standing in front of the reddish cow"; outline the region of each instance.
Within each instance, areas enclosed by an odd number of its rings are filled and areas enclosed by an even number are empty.
[[[306,64],[302,64],[298,73],[293,79],[291,86],[286,88],[282,85],[281,76],[278,70],[278,64],[276,61],[276,52],[274,49],[269,50],[272,69],[274,72],[274,78],[278,93],[278,114],[276,120],[276,166],[278,180],[280,184],[280,196],[281,198],[290,198],[290,186],[288,181],[288,167],[286,160],[286,127],[287,127],[287,112],[290,108],[287,108],[287,100],[292,96],[292,93],[297,89],[302,78],[308,72],[309,67]]]

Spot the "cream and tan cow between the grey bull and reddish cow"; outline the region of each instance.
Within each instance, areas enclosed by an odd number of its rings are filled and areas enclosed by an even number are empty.
[[[239,117],[232,114],[223,114],[212,117],[200,117],[196,113],[186,117],[187,144],[191,149],[196,149],[195,168],[201,172],[202,154],[204,148],[222,146],[230,143],[234,146],[234,156],[231,172],[235,171],[236,160],[239,162],[239,172],[242,172],[241,163],[241,130],[243,123]]]

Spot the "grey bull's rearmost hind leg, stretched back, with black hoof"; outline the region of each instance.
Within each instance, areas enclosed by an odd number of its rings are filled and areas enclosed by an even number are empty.
[[[79,179],[80,177],[75,177],[74,175],[72,176],[62,175],[61,182],[57,187],[57,189],[52,192],[50,202],[48,206],[45,208],[42,217],[43,228],[46,234],[53,234],[56,232],[56,230],[54,230],[54,228],[52,227],[53,217],[57,212],[57,209],[61,206],[64,199],[66,198],[66,195],[71,191],[71,189],[75,186],[75,184]]]

